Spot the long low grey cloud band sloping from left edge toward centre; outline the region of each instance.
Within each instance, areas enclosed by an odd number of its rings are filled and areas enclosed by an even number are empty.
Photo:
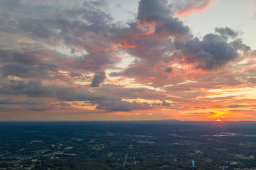
[[[10,82],[4,81],[0,84],[0,94],[26,95],[29,97],[56,97],[61,101],[89,101],[92,104],[97,104],[97,109],[107,111],[130,111],[149,108],[149,104],[147,103],[130,103],[122,101],[119,97],[97,94],[89,92],[86,89],[78,90],[56,85],[42,85],[40,81],[28,81],[28,83],[15,80]]]

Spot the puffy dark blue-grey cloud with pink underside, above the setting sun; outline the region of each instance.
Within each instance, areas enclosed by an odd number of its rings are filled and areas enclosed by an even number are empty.
[[[175,47],[186,55],[186,62],[197,63],[196,68],[216,69],[238,57],[236,50],[216,34],[207,34],[202,41],[198,38],[182,43],[175,42]]]

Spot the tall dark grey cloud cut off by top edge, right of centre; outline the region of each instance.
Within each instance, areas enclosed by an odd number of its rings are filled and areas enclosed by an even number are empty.
[[[173,17],[172,5],[166,0],[141,0],[137,18],[141,24],[155,24],[156,33],[164,37],[189,33],[189,27]]]

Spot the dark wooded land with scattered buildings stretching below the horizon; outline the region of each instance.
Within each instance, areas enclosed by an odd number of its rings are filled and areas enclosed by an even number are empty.
[[[256,122],[0,122],[0,169],[253,169],[255,157]]]

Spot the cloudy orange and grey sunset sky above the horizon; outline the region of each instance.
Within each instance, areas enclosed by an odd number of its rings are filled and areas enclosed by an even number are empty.
[[[256,120],[255,0],[1,0],[0,121]]]

